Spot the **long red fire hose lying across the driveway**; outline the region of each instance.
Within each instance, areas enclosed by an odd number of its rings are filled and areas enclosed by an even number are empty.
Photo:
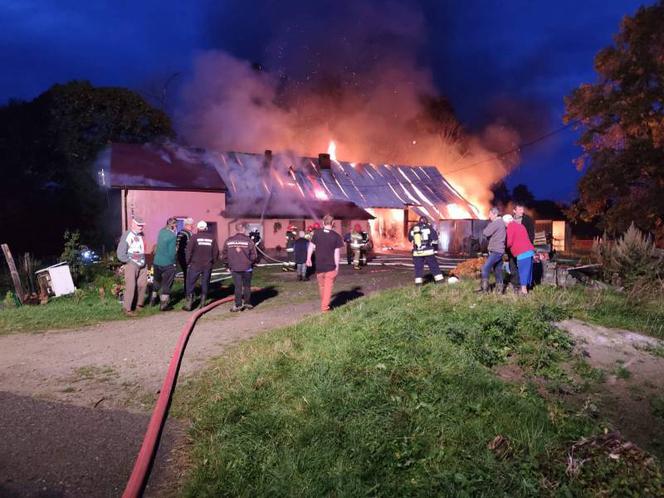
[[[252,291],[256,290],[258,289],[252,289]],[[159,398],[152,411],[152,417],[150,417],[148,428],[145,431],[143,444],[138,452],[136,462],[134,462],[134,469],[131,471],[131,476],[129,477],[124,493],[122,494],[123,498],[137,498],[142,496],[145,486],[148,483],[150,470],[152,469],[152,464],[154,463],[157,454],[159,440],[161,438],[162,430],[164,429],[164,424],[166,423],[168,409],[171,405],[171,399],[173,397],[173,391],[175,390],[175,383],[180,370],[180,364],[182,363],[184,349],[187,346],[192,331],[194,330],[194,325],[196,325],[198,319],[205,313],[216,308],[220,304],[228,303],[233,299],[233,296],[228,296],[219,301],[214,301],[202,309],[194,311],[189,317],[189,320],[187,320],[187,323],[182,327],[180,338],[178,339],[177,346],[171,357],[171,363],[168,365],[168,372],[166,373],[164,383],[161,386]]]

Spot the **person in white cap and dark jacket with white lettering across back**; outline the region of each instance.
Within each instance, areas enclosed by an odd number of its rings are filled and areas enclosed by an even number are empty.
[[[196,225],[198,230],[191,236],[187,244],[187,299],[183,309],[191,311],[194,307],[194,287],[198,277],[201,278],[201,302],[199,308],[205,306],[207,299],[208,286],[210,285],[210,275],[215,261],[219,259],[219,247],[216,237],[207,229],[207,223],[199,221]]]

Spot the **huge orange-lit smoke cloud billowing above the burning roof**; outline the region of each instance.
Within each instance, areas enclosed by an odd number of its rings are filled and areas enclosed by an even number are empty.
[[[519,134],[498,123],[475,134],[462,129],[418,61],[426,41],[419,9],[374,0],[330,12],[284,21],[264,67],[223,51],[201,53],[176,114],[180,135],[219,151],[308,156],[333,139],[341,160],[435,165],[486,211],[490,186],[519,160],[496,153],[514,148]]]

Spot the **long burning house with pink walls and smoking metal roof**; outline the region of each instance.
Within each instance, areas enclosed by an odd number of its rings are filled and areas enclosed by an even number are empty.
[[[454,234],[442,220],[479,218],[434,166],[351,163],[330,154],[221,153],[165,143],[113,144],[108,168],[101,176],[120,192],[122,228],[133,215],[142,216],[149,245],[169,216],[207,221],[220,242],[243,221],[261,232],[266,248],[276,248],[284,245],[289,225],[304,229],[330,213],[339,231],[359,223],[378,248],[404,248],[410,224],[428,216],[440,223],[441,249],[449,251]]]

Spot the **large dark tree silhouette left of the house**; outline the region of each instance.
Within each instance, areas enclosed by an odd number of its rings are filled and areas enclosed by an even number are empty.
[[[172,136],[170,119],[136,93],[88,82],[54,85],[0,107],[0,226],[17,252],[59,254],[65,230],[102,243],[105,195],[93,163],[110,142]]]

